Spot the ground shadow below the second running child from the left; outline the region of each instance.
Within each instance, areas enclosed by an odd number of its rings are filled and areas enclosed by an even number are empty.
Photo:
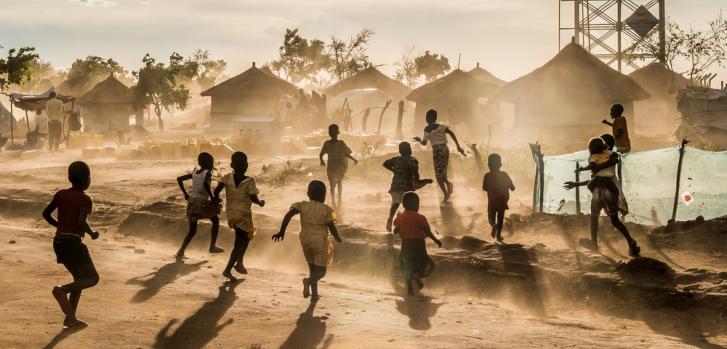
[[[159,293],[159,290],[161,290],[162,287],[171,284],[174,280],[184,275],[198,271],[205,263],[207,263],[207,261],[195,264],[184,264],[183,260],[178,259],[172,263],[165,264],[155,272],[129,279],[126,281],[126,284],[142,285],[144,287],[139,290],[133,298],[131,298],[131,301],[133,303],[148,301]]]

